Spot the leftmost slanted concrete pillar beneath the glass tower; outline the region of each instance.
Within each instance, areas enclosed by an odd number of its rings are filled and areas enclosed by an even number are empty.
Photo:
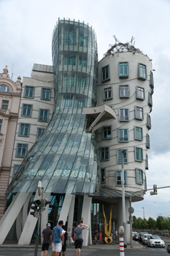
[[[10,228],[12,227],[15,219],[18,217],[23,204],[25,203],[29,193],[26,192],[18,192],[15,195],[14,200],[7,208],[7,211],[4,213],[4,216],[1,218],[0,222],[0,244],[4,243],[7,234],[9,233]]]

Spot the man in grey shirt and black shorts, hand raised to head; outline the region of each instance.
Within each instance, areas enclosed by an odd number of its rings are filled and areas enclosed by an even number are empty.
[[[75,256],[80,256],[80,251],[82,249],[82,230],[85,230],[88,225],[83,225],[82,222],[78,222],[78,226],[74,229],[74,240],[75,240]]]

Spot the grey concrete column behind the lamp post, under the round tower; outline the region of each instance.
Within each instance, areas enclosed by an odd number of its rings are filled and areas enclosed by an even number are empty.
[[[130,224],[127,224],[129,221],[128,208],[130,207],[130,203],[128,198],[125,198],[125,222],[126,222],[126,241],[127,244],[131,244],[131,233],[130,233]],[[122,215],[122,198],[117,199],[117,211],[118,211],[118,219],[117,219],[117,231],[120,226],[123,225],[123,215]]]

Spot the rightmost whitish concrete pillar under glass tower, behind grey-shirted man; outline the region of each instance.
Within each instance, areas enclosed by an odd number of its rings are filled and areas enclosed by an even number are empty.
[[[85,225],[88,225],[88,228],[86,230],[82,230],[83,246],[88,246],[88,237],[90,236],[91,202],[92,202],[92,197],[88,197],[88,195],[84,195],[84,200],[82,204],[82,218],[83,218],[83,223]]]

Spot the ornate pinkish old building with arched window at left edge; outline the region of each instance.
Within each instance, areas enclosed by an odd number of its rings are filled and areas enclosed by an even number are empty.
[[[4,214],[12,149],[20,106],[21,78],[9,78],[7,66],[0,74],[0,219]]]

